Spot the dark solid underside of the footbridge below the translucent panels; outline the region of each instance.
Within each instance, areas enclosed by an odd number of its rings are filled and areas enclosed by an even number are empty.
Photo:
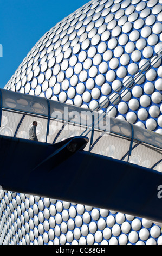
[[[124,212],[162,223],[162,173],[84,151],[87,137],[56,144],[0,136],[3,190]]]

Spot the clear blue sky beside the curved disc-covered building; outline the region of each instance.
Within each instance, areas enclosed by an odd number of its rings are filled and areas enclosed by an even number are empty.
[[[31,48],[51,27],[87,2],[0,0],[0,88],[4,88]]]

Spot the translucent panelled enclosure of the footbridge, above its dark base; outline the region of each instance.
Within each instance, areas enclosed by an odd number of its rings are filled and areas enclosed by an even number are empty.
[[[67,103],[0,89],[0,135],[28,139],[33,121],[42,143],[87,136],[85,151],[162,172],[162,136],[128,121]]]

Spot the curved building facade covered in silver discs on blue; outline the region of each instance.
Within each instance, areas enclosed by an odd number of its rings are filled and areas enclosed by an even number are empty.
[[[42,36],[4,89],[94,109],[153,60],[161,22],[161,0],[90,1]],[[162,134],[161,91],[159,58],[109,113]],[[144,218],[4,190],[0,204],[1,245],[162,245]]]

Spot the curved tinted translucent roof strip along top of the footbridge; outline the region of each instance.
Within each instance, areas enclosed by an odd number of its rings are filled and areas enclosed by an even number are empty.
[[[162,135],[131,124],[126,120],[111,117],[109,114],[102,117],[102,113],[89,108],[77,107],[68,103],[48,100],[44,97],[12,92],[5,89],[0,89],[0,99],[1,125],[2,110],[8,109],[12,112],[20,112],[25,115],[31,114],[35,117],[46,118],[48,120],[47,135],[49,132],[50,119],[57,119],[70,124],[75,123],[89,127],[88,133],[92,130],[114,133],[121,137],[129,138],[132,141],[140,141],[155,148],[162,149]],[[100,120],[102,120],[102,123],[100,123]],[[85,131],[82,135],[85,135]]]

